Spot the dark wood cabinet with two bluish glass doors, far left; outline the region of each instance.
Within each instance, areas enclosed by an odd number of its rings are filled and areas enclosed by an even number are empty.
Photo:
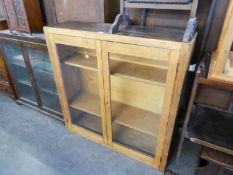
[[[1,51],[17,102],[62,120],[57,88],[43,37],[0,33]]]

